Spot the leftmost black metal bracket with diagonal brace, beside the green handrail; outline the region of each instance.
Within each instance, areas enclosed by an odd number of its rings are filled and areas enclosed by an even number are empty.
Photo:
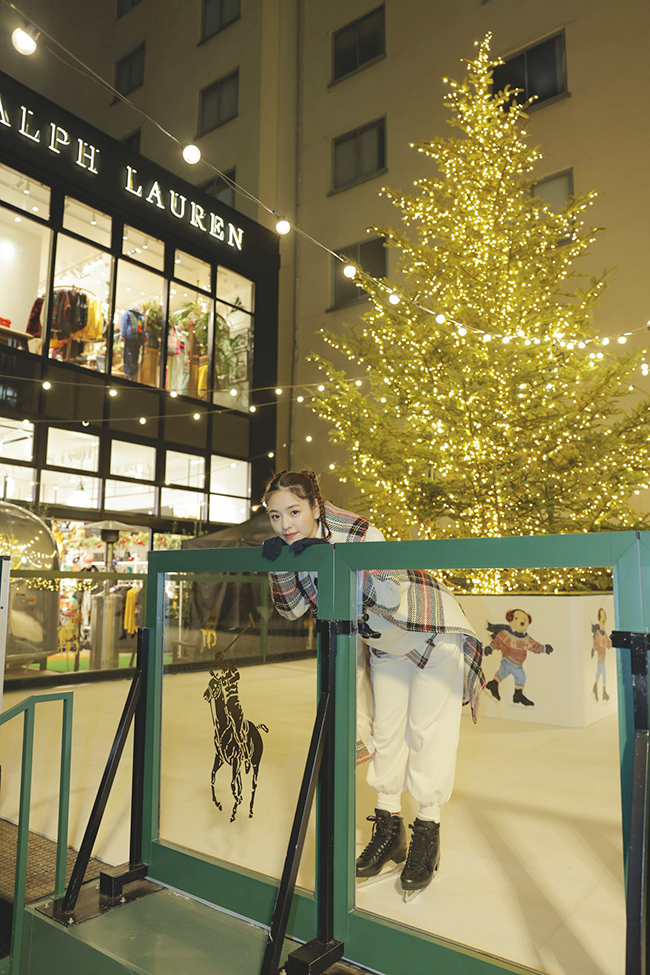
[[[148,867],[142,863],[142,816],[144,799],[144,758],[145,758],[145,728],[146,728],[146,686],[148,674],[149,656],[149,630],[141,628],[138,630],[136,672],[131,682],[131,687],[127,694],[124,709],[117,726],[115,738],[106,762],[104,774],[99,784],[97,796],[90,813],[88,825],[79,847],[79,853],[72,868],[72,874],[68,882],[68,887],[63,897],[57,898],[52,902],[51,909],[48,911],[51,917],[61,921],[62,924],[75,924],[80,920],[86,920],[88,914],[84,910],[82,917],[75,912],[77,898],[88,867],[88,861],[92,853],[97,833],[101,825],[102,817],[108,803],[111,787],[115,781],[115,776],[122,758],[126,739],[131,728],[133,728],[133,773],[131,783],[131,836],[129,849],[129,862],[120,867],[113,867],[103,870],[99,875],[99,892],[104,907],[106,900],[110,901],[108,906],[115,906],[113,902],[124,902],[123,890],[127,884],[134,881],[142,881],[147,875]],[[150,884],[149,888],[155,888]],[[149,888],[146,889],[148,892]],[[140,887],[142,888],[142,885]],[[142,894],[140,894],[142,896]],[[94,910],[94,907],[91,908]]]

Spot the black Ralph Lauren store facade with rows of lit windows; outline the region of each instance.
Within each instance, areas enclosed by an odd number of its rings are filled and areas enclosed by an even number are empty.
[[[2,499],[194,533],[275,443],[275,234],[0,74]]]

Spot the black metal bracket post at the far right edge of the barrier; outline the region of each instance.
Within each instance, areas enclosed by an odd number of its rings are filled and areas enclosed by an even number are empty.
[[[648,729],[648,654],[650,633],[615,630],[613,646],[630,651],[634,740],[630,847],[627,874],[626,975],[647,975],[648,870],[650,869],[650,732]]]

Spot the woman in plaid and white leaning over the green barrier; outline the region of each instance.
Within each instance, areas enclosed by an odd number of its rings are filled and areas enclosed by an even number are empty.
[[[268,482],[264,504],[273,538],[263,554],[276,559],[284,545],[295,554],[312,544],[384,541],[367,519],[323,501],[313,471],[281,471]],[[276,609],[298,619],[317,609],[310,572],[272,572]],[[359,632],[370,649],[374,755],[368,783],[377,790],[370,842],[358,857],[359,879],[394,863],[404,891],[427,887],[440,861],[440,809],[454,780],[463,699],[476,720],[481,645],[454,597],[422,570],[362,574]],[[420,810],[406,831],[401,794],[408,789]]]

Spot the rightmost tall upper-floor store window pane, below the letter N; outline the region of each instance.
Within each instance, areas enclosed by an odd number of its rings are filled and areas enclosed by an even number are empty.
[[[253,318],[239,308],[218,301],[214,331],[212,400],[222,406],[247,409],[253,351]]]

